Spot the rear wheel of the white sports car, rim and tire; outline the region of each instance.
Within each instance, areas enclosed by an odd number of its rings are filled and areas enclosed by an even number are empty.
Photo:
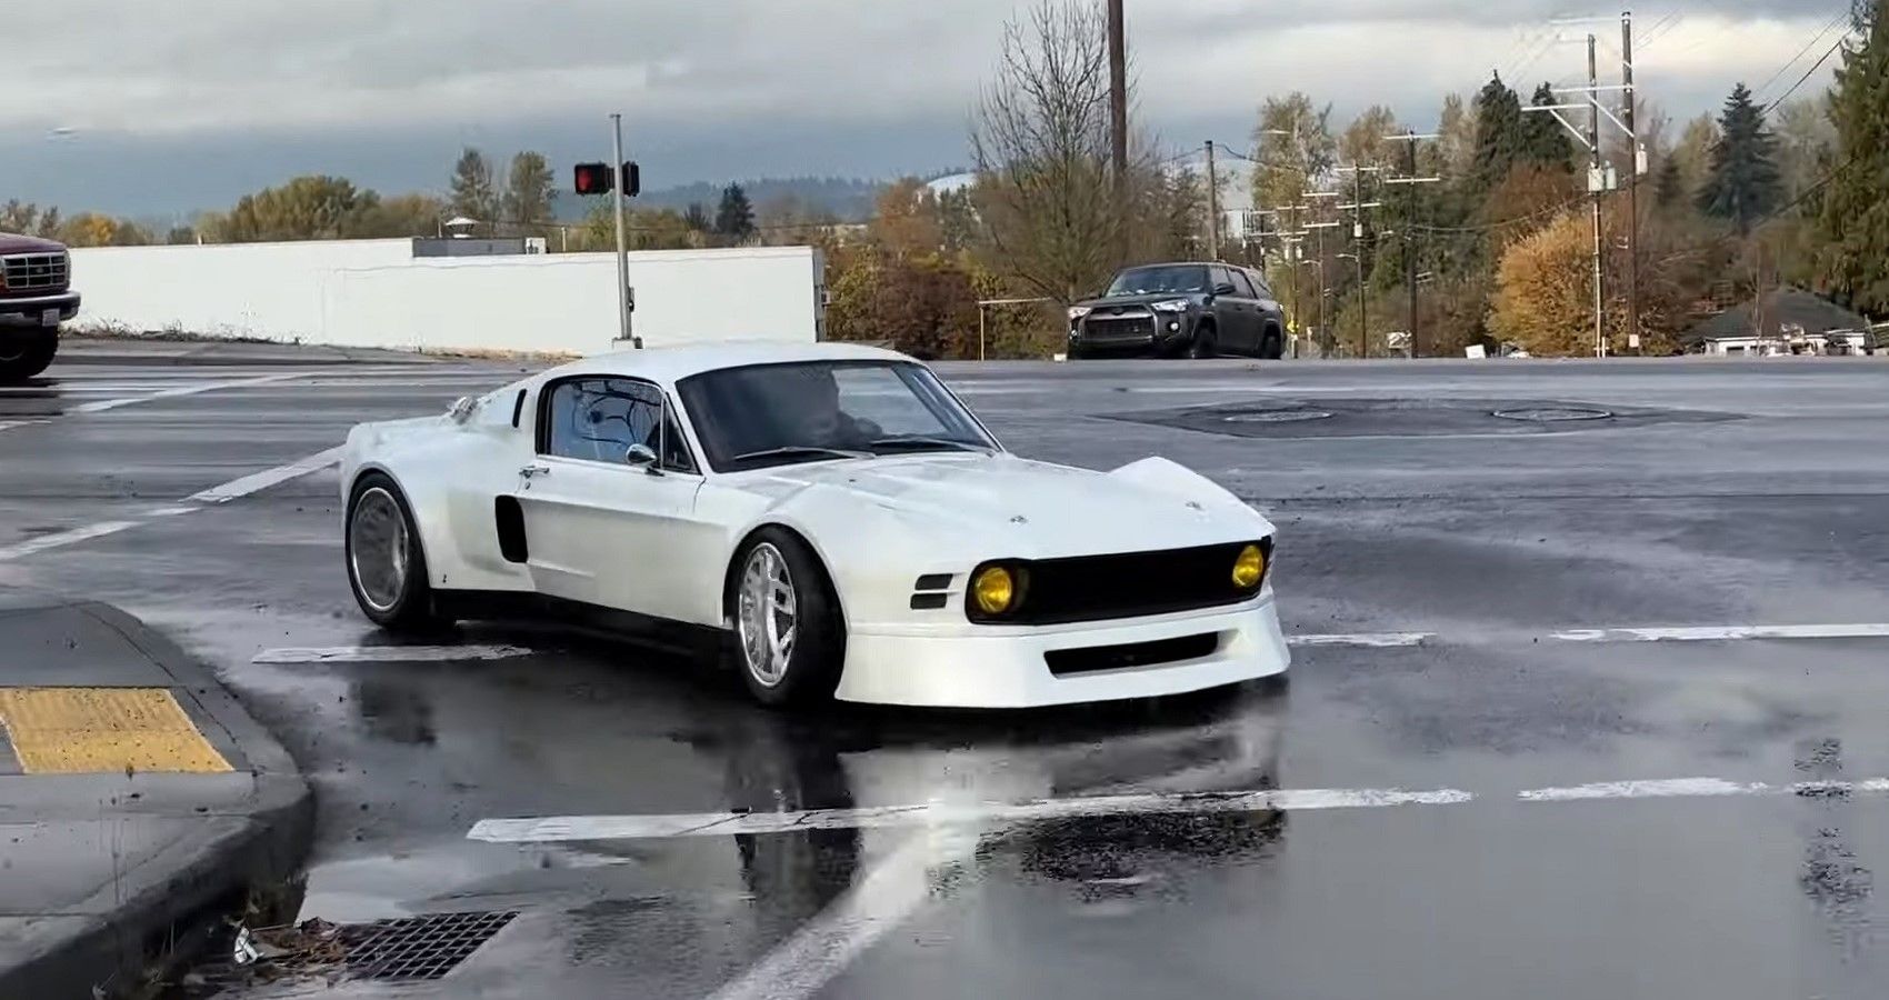
[[[406,495],[368,473],[348,499],[348,584],[361,612],[393,631],[427,631],[444,622],[433,607],[427,554]]]

